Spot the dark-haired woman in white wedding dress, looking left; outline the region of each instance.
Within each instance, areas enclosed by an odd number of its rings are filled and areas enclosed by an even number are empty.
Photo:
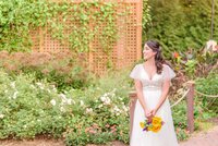
[[[157,41],[148,40],[143,50],[144,62],[136,64],[130,76],[134,78],[137,101],[135,105],[131,146],[179,146],[170,104],[167,98],[173,70],[161,57]],[[140,122],[160,117],[165,124],[158,133],[143,131]]]

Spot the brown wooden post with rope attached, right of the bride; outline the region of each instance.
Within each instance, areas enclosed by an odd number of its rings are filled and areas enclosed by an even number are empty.
[[[190,133],[194,132],[194,82],[187,82],[190,92],[186,96],[187,104],[187,130]]]

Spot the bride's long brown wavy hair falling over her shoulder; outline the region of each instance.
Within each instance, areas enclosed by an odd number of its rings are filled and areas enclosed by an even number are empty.
[[[156,52],[155,54],[155,64],[157,66],[157,73],[160,74],[162,72],[162,64],[168,64],[161,54],[161,47],[160,44],[156,40],[148,40],[145,42],[153,51]]]

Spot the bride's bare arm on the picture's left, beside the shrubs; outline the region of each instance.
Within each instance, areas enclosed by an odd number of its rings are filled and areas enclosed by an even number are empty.
[[[135,90],[136,90],[136,94],[137,94],[137,99],[138,99],[140,104],[142,105],[146,117],[148,118],[148,117],[150,117],[150,111],[146,107],[145,99],[143,98],[143,85],[142,85],[142,82],[140,80],[134,80],[134,83],[135,83]]]

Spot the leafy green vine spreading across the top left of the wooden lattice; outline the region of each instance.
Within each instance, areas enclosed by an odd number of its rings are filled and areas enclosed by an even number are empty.
[[[98,38],[105,51],[118,39],[116,2],[49,2],[47,0],[0,1],[0,49],[26,51],[32,46],[29,32],[47,28],[52,38],[69,44],[75,51],[87,51]],[[124,12],[123,12],[124,13]]]

